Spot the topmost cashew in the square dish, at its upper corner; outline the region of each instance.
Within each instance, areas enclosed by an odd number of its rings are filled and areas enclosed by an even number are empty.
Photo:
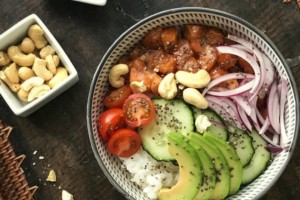
[[[46,38],[44,37],[43,29],[37,24],[29,27],[28,36],[33,40],[36,48],[38,49],[41,49],[48,44]]]

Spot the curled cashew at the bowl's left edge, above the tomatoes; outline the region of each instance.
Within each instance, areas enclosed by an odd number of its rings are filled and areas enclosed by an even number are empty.
[[[111,68],[108,74],[109,83],[115,87],[119,88],[124,85],[125,79],[122,77],[129,72],[129,68],[126,64],[118,64]]]

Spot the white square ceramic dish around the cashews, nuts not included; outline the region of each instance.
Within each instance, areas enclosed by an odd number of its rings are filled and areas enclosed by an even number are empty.
[[[11,45],[18,45],[21,42],[21,40],[26,36],[29,27],[33,24],[39,25],[44,31],[44,36],[48,41],[48,44],[50,44],[53,47],[56,54],[60,58],[60,63],[67,69],[68,77],[64,79],[59,85],[57,85],[57,87],[54,87],[45,95],[31,102],[21,101],[17,97],[17,95],[14,92],[12,92],[3,81],[0,82],[1,96],[6,101],[10,109],[16,115],[20,115],[22,117],[26,117],[32,114],[33,112],[44,106],[46,103],[53,100],[59,94],[69,89],[79,80],[77,71],[71,63],[70,59],[68,58],[60,44],[57,42],[57,40],[54,38],[54,36],[51,34],[49,29],[46,27],[46,25],[35,14],[27,16],[26,18],[24,18],[23,20],[21,20],[20,22],[18,22],[17,24],[15,24],[10,29],[8,29],[0,35],[0,50],[6,51],[7,48]]]

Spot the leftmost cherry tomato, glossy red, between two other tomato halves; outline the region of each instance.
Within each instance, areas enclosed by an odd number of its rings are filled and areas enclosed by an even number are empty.
[[[124,112],[120,108],[111,108],[104,111],[98,119],[98,132],[104,141],[119,128],[126,127]]]

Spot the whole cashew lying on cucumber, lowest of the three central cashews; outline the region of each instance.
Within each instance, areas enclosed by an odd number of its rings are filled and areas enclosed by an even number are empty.
[[[183,100],[200,109],[206,109],[208,107],[207,100],[202,94],[195,88],[186,88],[183,90]]]

